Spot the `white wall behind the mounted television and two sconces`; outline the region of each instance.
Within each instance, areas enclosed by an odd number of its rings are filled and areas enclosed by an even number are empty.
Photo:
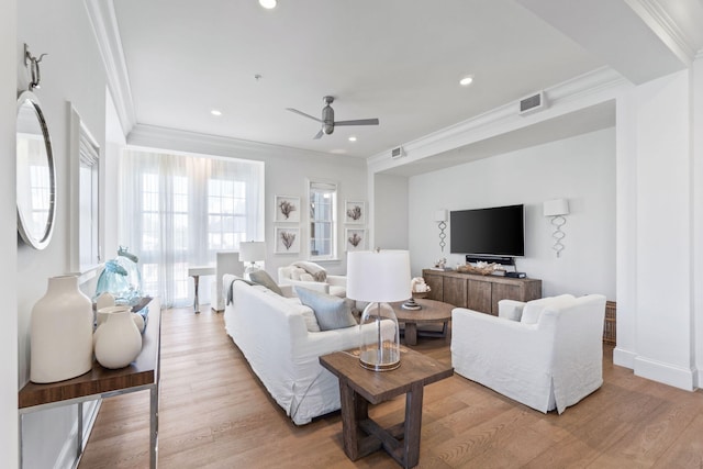
[[[562,227],[566,246],[557,258],[553,227],[542,214],[545,200],[566,198],[570,214]],[[542,279],[543,294],[603,293],[615,300],[615,131],[572,138],[481,159],[410,179],[410,249],[413,275],[446,257],[439,250],[438,209],[525,205],[525,257],[517,269]]]

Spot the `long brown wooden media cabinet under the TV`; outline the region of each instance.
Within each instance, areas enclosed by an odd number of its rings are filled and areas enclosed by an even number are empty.
[[[529,301],[542,298],[542,280],[423,269],[431,300],[498,315],[500,300]]]

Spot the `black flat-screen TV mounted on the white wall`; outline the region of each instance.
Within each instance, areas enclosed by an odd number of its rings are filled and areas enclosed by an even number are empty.
[[[524,256],[523,205],[453,211],[449,235],[453,254]]]

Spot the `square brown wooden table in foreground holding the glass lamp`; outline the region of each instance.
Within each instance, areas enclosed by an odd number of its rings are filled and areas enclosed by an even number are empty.
[[[422,398],[426,384],[449,378],[454,368],[401,347],[400,367],[371,371],[359,365],[358,349],[320,357],[320,364],[339,379],[344,453],[353,461],[381,447],[402,467],[420,461]],[[368,406],[405,394],[405,421],[381,428],[369,418]]]

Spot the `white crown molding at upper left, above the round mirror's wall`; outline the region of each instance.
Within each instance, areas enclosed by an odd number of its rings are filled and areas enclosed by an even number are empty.
[[[108,89],[112,94],[122,132],[127,135],[136,125],[136,113],[113,0],[85,0],[85,4],[105,67]]]

